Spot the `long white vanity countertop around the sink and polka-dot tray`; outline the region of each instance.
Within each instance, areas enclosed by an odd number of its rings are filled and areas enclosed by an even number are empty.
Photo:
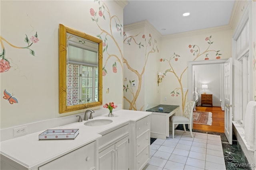
[[[108,131],[118,125],[137,121],[148,115],[150,112],[118,110],[114,111],[114,117],[108,117],[108,114],[94,117],[93,119],[111,119],[112,123],[102,126],[85,126],[82,122],[70,123],[68,125],[58,126],[51,129],[79,129],[76,139],[54,139],[39,140],[38,135],[44,131],[31,133],[22,137],[17,137],[2,141],[0,143],[0,152],[2,155],[19,162],[26,168],[41,166],[51,160],[54,160],[68,152],[78,149],[101,137],[100,134]]]

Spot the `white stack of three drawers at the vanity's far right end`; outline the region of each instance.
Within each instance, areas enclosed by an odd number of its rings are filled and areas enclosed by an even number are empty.
[[[130,169],[141,170],[150,160],[150,116],[130,122]]]

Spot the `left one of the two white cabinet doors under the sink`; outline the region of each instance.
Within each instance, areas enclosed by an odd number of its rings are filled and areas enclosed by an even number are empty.
[[[115,169],[115,145],[99,153],[99,170]]]

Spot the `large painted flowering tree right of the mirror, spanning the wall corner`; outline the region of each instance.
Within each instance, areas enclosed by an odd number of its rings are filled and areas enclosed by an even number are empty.
[[[152,41],[152,37],[150,35],[150,38],[148,39],[148,41],[146,42],[146,38],[145,38],[145,35],[143,35],[143,38],[145,39],[145,44],[146,44],[146,48],[145,48],[145,63],[144,63],[144,67],[143,67],[143,70],[141,73],[139,73],[137,70],[135,70],[134,68],[132,68],[132,66],[130,66],[130,64],[128,63],[128,61],[124,58],[124,55],[122,53],[122,48],[118,45],[118,42],[116,41],[114,35],[113,35],[113,31],[112,30],[112,24],[113,21],[115,22],[115,29],[116,31],[120,31],[120,35],[124,35],[124,44],[129,44],[131,43],[132,40],[134,40],[134,42],[139,46],[139,48],[141,47],[144,47],[144,45],[142,43],[137,43],[136,40],[134,39],[134,37],[136,37],[137,35],[135,36],[130,36],[130,37],[126,37],[126,34],[125,33],[122,33],[122,24],[119,20],[119,18],[117,16],[111,16],[110,15],[110,11],[108,9],[108,7],[106,6],[106,4],[100,0],[94,0],[94,2],[98,2],[98,4],[100,5],[99,7],[99,11],[98,12],[95,12],[93,8],[90,9],[90,15],[92,16],[92,21],[94,21],[98,28],[100,29],[101,33],[97,35],[97,37],[99,39],[102,39],[103,40],[103,52],[106,53],[106,55],[108,56],[107,59],[106,59],[106,63],[108,62],[108,59],[110,59],[111,57],[115,57],[116,58],[116,61],[120,63],[121,67],[123,67],[122,63],[126,64],[127,68],[133,72],[134,74],[136,74],[136,76],[138,77],[138,89],[136,90],[135,93],[133,93],[133,99],[130,101],[128,100],[128,102],[130,103],[130,109],[135,109],[136,110],[136,105],[135,105],[135,102],[140,94],[140,89],[141,89],[141,85],[142,85],[142,75],[144,74],[144,70],[145,70],[145,66],[146,66],[146,63],[147,63],[147,60],[148,60],[148,56],[151,54],[151,53],[155,53],[156,51],[158,52],[158,48],[156,46],[156,41]],[[109,29],[110,31],[106,31],[105,29],[103,29],[99,23],[98,23],[98,20],[99,20],[99,17],[102,17],[104,20],[106,20],[106,16],[108,16],[108,18],[110,18],[110,21],[109,21]],[[106,24],[104,24],[106,25]],[[114,55],[114,54],[110,54],[108,53],[108,41],[109,39],[112,39],[112,41],[114,41],[119,53],[120,53],[120,56],[121,56],[121,60],[120,58],[118,57],[118,55]],[[151,46],[151,49],[150,51],[147,52],[147,47],[148,46]],[[106,63],[105,65],[103,66],[103,69],[102,69],[102,75],[103,76],[106,76],[107,75],[107,70],[106,70]],[[116,63],[112,64],[112,69],[113,69],[113,72],[116,71]],[[123,69],[122,69],[123,70]],[[131,92],[131,91],[130,91]]]

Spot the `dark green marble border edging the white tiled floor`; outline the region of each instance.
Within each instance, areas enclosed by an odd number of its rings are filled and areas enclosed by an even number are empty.
[[[178,130],[184,130],[183,125],[178,125],[176,128]],[[188,126],[186,125],[186,130],[189,131]],[[246,167],[248,164],[248,160],[244,155],[244,152],[238,143],[236,136],[233,134],[232,145],[228,143],[228,139],[226,138],[224,133],[218,132],[208,132],[208,131],[199,131],[199,130],[192,130],[193,132],[198,133],[208,133],[212,135],[220,135],[221,142],[222,142],[222,149],[224,154],[224,160],[226,164],[226,170],[252,170],[250,167]],[[155,138],[150,139],[150,145],[155,141]],[[234,167],[234,164],[236,167]],[[241,166],[239,166],[241,165]]]

